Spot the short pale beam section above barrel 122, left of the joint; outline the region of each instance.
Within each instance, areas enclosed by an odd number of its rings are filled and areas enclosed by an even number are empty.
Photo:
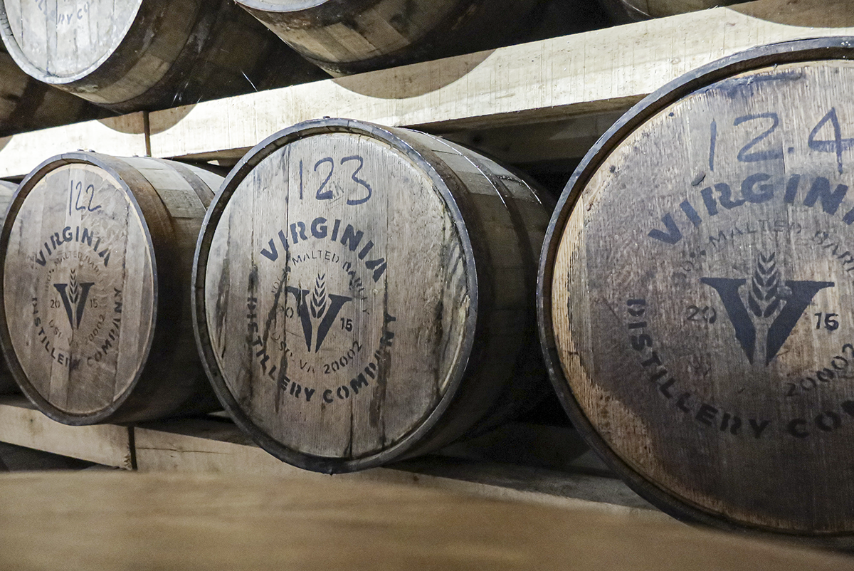
[[[147,155],[145,121],[143,113],[132,113],[2,137],[0,176],[22,177],[50,156],[73,150],[96,150],[118,156]]]

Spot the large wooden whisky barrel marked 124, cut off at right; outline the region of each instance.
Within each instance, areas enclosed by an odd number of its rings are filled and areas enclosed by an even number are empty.
[[[543,248],[574,425],[642,496],[719,527],[854,538],[851,38],[750,50],[617,121]]]

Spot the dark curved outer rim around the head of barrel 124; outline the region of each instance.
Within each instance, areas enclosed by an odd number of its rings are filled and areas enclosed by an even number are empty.
[[[850,550],[851,545],[854,545],[854,535],[851,533],[814,535],[787,533],[784,530],[747,525],[740,521],[731,521],[723,516],[711,514],[705,509],[700,509],[683,498],[677,497],[675,493],[665,490],[664,487],[658,486],[652,480],[646,479],[643,474],[635,471],[628,462],[625,462],[617,456],[614,450],[611,450],[605,439],[600,436],[593,422],[584,413],[575,395],[570,391],[553,334],[551,308],[553,268],[563,230],[576,201],[581,196],[586,181],[595,173],[600,162],[623,141],[623,138],[658,111],[705,85],[752,69],[791,62],[854,59],[854,51],[851,50],[852,42],[854,42],[854,38],[839,37],[801,39],[769,44],[711,62],[663,85],[629,109],[588,151],[588,154],[584,156],[569,182],[567,182],[559,197],[552,220],[549,222],[537,274],[536,305],[541,350],[552,385],[558,393],[559,401],[569,415],[573,427],[582,434],[582,437],[596,451],[597,455],[638,495],[677,520],[693,525],[717,527],[730,532],[752,533],[767,539],[785,538],[805,545],[821,545],[832,549]]]

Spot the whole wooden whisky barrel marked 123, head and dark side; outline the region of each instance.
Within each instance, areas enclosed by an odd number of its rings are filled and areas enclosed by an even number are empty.
[[[329,473],[512,415],[548,390],[533,313],[547,219],[516,174],[423,133],[328,119],[267,138],[196,248],[220,402],[272,455]]]

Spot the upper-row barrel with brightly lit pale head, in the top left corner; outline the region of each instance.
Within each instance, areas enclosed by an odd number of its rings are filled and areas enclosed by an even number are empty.
[[[322,76],[229,0],[2,0],[0,37],[33,78],[120,112]]]

